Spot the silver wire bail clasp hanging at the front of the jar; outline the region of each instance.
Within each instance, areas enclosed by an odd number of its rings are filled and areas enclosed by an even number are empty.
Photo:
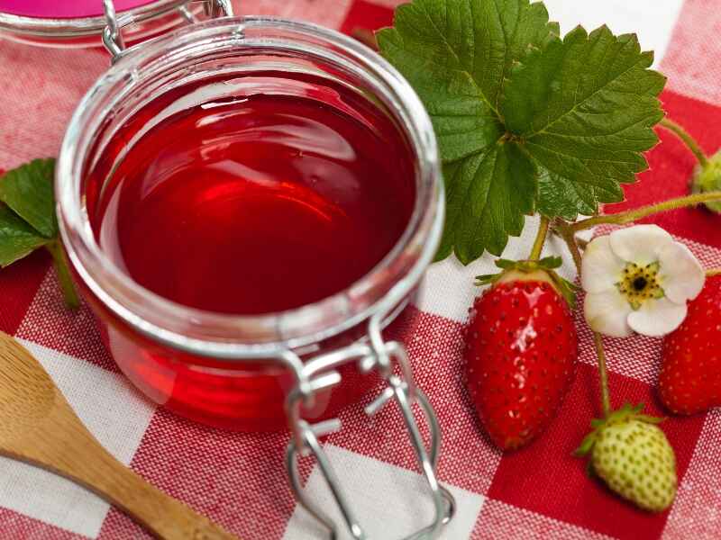
[[[443,525],[452,519],[455,512],[455,500],[453,500],[452,494],[438,483],[435,474],[441,446],[441,428],[424,392],[415,387],[406,348],[397,341],[388,343],[383,341],[380,334],[381,320],[383,320],[383,314],[376,314],[370,319],[369,344],[354,344],[350,347],[316,356],[304,366],[303,372],[305,376],[303,380],[306,382],[306,392],[301,392],[301,389],[297,388],[287,396],[287,415],[292,430],[292,438],[286,452],[287,473],[290,486],[297,500],[328,529],[331,538],[335,540],[338,536],[338,529],[333,519],[323,509],[318,508],[312,500],[309,500],[302,490],[300,474],[298,473],[298,457],[300,455],[312,455],[318,464],[320,473],[323,474],[328,489],[331,491],[333,500],[338,506],[351,536],[357,540],[367,539],[358,519],[348,504],[348,500],[344,496],[338,477],[333,471],[333,466],[327,455],[325,455],[323,446],[318,441],[318,437],[339,431],[342,428],[341,420],[331,419],[309,424],[305,419],[301,418],[300,405],[302,401],[312,399],[315,392],[340,383],[342,376],[338,368],[342,365],[357,362],[359,370],[363,374],[370,374],[372,371],[378,370],[387,386],[378,398],[365,408],[365,412],[369,417],[372,417],[391,401],[395,401],[400,407],[418,465],[434,501],[433,521],[430,525],[416,531],[411,536],[407,536],[405,540],[431,540],[440,535]],[[430,432],[430,448],[426,448],[424,445],[412,408],[414,403],[424,413],[423,416]]]

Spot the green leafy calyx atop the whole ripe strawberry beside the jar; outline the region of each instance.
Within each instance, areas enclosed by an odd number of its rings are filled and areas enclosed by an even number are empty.
[[[562,264],[561,257],[543,257],[539,260],[523,261],[499,258],[496,260],[496,266],[501,269],[501,272],[477,275],[476,284],[482,286],[515,281],[516,278],[524,279],[524,275],[528,280],[545,280],[552,284],[556,292],[561,294],[563,299],[568,302],[570,309],[573,310],[576,307],[576,293],[579,288],[556,272],[556,269],[560,268]]]

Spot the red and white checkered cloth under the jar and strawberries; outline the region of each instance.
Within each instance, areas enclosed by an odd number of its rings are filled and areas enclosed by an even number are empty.
[[[391,22],[396,0],[244,0],[242,14],[278,14],[352,31]],[[721,146],[721,10],[718,0],[546,0],[552,19],[568,31],[601,23],[637,31],[655,49],[669,77],[663,106],[708,152]],[[57,154],[69,115],[105,68],[101,50],[33,49],[0,41],[0,168]],[[638,206],[687,190],[693,156],[661,133],[649,154],[651,170],[626,190]],[[534,224],[514,239],[507,257],[524,257]],[[708,266],[721,266],[721,218],[674,211],[655,220]],[[561,249],[553,243],[550,247]],[[444,532],[462,538],[721,537],[721,410],[671,418],[663,429],[676,449],[680,488],[661,515],[640,512],[584,474],[571,451],[598,416],[598,379],[588,329],[580,332],[581,364],[559,418],[532,446],[502,455],[481,435],[461,383],[461,326],[477,293],[472,277],[491,257],[462,267],[433,266],[420,299],[392,330],[410,350],[415,374],[443,427],[442,482],[458,501]],[[566,275],[572,277],[570,266]],[[35,254],[0,272],[0,329],[41,359],[88,428],[123,463],[162,490],[185,500],[247,540],[300,540],[322,535],[287,489],[282,467],[286,433],[233,434],[197,426],[156,408],[118,372],[87,309],[63,307],[48,257]],[[651,338],[608,340],[611,392],[643,401],[654,413],[653,385],[660,343]],[[430,507],[404,437],[395,437],[397,411],[372,425],[349,411],[346,430],[325,447],[372,538],[397,538],[428,518]],[[306,486],[337,517],[320,473],[306,467]],[[24,464],[0,458],[0,539],[138,539],[147,537],[120,512],[87,491]],[[345,537],[345,536],[343,536]]]

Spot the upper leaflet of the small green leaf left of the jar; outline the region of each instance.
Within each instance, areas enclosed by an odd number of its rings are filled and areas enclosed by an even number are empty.
[[[8,171],[0,181],[0,201],[45,238],[58,236],[52,191],[54,171],[54,159],[35,159]]]

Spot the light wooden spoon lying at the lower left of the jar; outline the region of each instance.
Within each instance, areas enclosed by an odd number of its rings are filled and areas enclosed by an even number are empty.
[[[110,455],[78,419],[41,364],[3,332],[0,455],[37,465],[96,492],[160,538],[236,538]]]

